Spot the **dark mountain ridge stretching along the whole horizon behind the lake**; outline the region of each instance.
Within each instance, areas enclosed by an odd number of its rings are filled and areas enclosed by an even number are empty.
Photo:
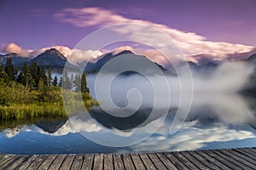
[[[84,63],[87,63],[87,65],[84,68],[84,71],[86,71],[86,72],[99,71],[102,68],[102,66],[105,65],[110,59],[113,59],[120,55],[126,55],[126,54],[140,56],[140,57],[144,57],[144,58],[148,59],[146,56],[140,55],[140,54],[134,54],[130,50],[123,50],[117,54],[114,54],[113,52],[109,52],[106,54],[102,54],[97,59],[96,62],[93,62],[93,61],[85,62],[84,61]],[[36,62],[40,66],[57,67],[57,68],[64,68],[67,62],[68,62],[67,63],[68,65],[72,65],[71,63],[69,63],[68,59],[63,54],[61,54],[60,51],[58,51],[55,48],[49,48],[46,51],[44,51],[44,53],[38,54],[38,56],[36,56],[35,58],[32,58],[32,56],[24,57],[24,56],[20,56],[20,54],[15,54],[15,53],[0,54],[0,61],[3,65],[5,65],[7,59],[9,59],[9,58],[12,58],[13,59],[12,61],[13,61],[13,64],[15,65],[15,67],[19,67],[19,68],[21,68],[25,62],[28,62],[28,63]],[[150,61],[152,61],[152,60],[150,60]],[[239,59],[238,61],[256,62],[256,54],[250,55],[247,59]],[[162,71],[168,70],[163,65],[159,65],[158,63],[155,63],[154,61],[152,61],[152,62],[154,64],[156,64],[157,66],[159,66]],[[209,70],[211,70],[211,69],[218,67],[218,65],[222,64],[222,62],[216,63],[214,61],[212,61],[212,62],[208,61],[208,62],[200,63],[200,64],[197,64],[197,63],[191,62],[191,61],[185,61],[184,63],[188,63],[192,69],[199,70],[199,71],[204,70],[205,68],[209,68]],[[78,63],[78,65],[83,65],[83,62]]]

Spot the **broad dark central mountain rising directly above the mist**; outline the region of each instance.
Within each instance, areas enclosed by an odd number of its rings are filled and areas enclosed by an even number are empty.
[[[151,61],[150,59],[148,59],[147,57],[145,57],[143,55],[133,54],[129,50],[122,51],[119,54],[112,54],[112,53],[103,54],[101,57],[99,57],[99,59],[96,62],[87,63],[87,65],[85,65],[85,67],[84,67],[84,71],[87,73],[98,72],[102,69],[103,65],[108,63],[108,61],[110,61],[111,59],[117,58],[117,57],[129,58],[129,59],[131,59],[132,64],[139,67],[139,69],[141,71],[148,71],[149,73],[154,74],[154,72],[151,71],[150,69],[148,69],[148,67],[147,67],[148,61],[150,61],[151,63],[154,63],[153,61]],[[139,63],[137,63],[137,61]],[[115,65],[115,68],[111,69],[111,71],[118,71],[120,69],[119,67],[122,67],[122,65],[125,65],[125,64],[127,64],[127,63],[120,63],[120,65]],[[161,66],[157,63],[154,63],[154,64],[157,65],[161,71],[166,71],[166,72],[168,71],[163,66]],[[81,65],[83,65],[83,63]],[[133,73],[135,73],[135,72],[133,72]],[[125,74],[133,74],[133,73],[132,73],[132,71],[126,71]]]

